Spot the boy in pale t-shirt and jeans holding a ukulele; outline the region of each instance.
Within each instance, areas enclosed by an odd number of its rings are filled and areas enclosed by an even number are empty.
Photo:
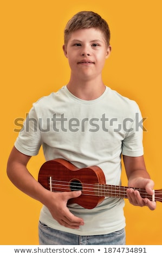
[[[111,53],[107,22],[92,11],[72,17],[64,31],[63,51],[71,75],[67,86],[34,103],[24,129],[11,151],[7,173],[24,193],[43,204],[40,214],[41,245],[124,245],[124,200],[106,197],[94,209],[70,204],[81,191],[51,192],[27,170],[31,156],[43,146],[46,161],[61,158],[76,167],[99,166],[106,184],[120,185],[121,155],[129,187],[153,194],[142,148],[141,118],[137,103],[114,92],[102,81],[102,69]],[[141,119],[140,119],[141,120]],[[133,205],[155,209],[128,188]]]

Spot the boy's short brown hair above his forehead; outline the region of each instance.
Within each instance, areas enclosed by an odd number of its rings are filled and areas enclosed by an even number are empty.
[[[70,19],[64,29],[64,45],[67,45],[70,35],[79,29],[96,28],[103,33],[105,43],[109,46],[110,31],[108,24],[102,17],[93,11],[80,11]]]

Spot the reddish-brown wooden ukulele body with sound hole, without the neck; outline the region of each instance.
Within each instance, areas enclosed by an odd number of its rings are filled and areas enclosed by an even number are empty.
[[[38,182],[53,192],[82,191],[80,197],[69,199],[68,204],[76,203],[86,209],[95,208],[105,198],[97,194],[99,184],[106,184],[98,166],[79,169],[63,159],[50,160],[40,168]]]

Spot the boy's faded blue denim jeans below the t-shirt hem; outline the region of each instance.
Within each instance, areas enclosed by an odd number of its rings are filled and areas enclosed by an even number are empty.
[[[125,229],[107,235],[75,235],[39,223],[40,245],[125,245]]]

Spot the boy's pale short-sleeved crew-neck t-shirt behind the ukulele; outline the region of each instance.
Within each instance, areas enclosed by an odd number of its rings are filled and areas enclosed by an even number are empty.
[[[42,145],[46,161],[61,158],[78,168],[97,165],[105,174],[106,184],[120,185],[121,154],[143,155],[141,120],[137,103],[108,87],[98,99],[86,101],[64,86],[33,104],[15,147],[33,156]],[[40,221],[79,235],[108,234],[125,227],[123,199],[106,197],[94,209],[77,204],[68,207],[85,221],[80,229],[57,223],[46,206]]]

